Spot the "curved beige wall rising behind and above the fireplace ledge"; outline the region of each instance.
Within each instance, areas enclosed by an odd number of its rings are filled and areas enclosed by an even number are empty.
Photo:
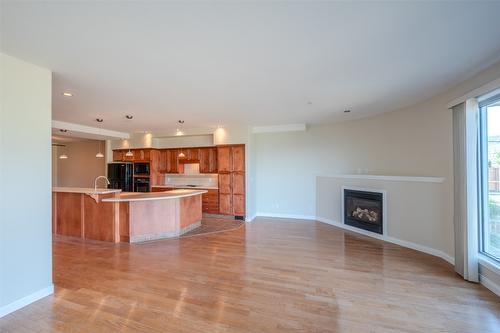
[[[448,92],[418,105],[370,118],[309,126],[305,132],[255,135],[257,214],[314,218],[330,195],[317,192],[316,178],[335,174],[435,176],[442,215],[416,232],[395,225],[402,240],[450,257],[453,245],[452,118],[447,104],[500,78],[500,63]],[[356,110],[353,110],[355,113]],[[329,219],[336,219],[331,212]],[[398,223],[398,221],[394,221]]]

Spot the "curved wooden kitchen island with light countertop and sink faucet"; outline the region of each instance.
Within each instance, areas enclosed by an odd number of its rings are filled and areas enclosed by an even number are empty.
[[[182,235],[201,224],[205,190],[157,193],[55,187],[53,233],[108,242],[143,242]]]

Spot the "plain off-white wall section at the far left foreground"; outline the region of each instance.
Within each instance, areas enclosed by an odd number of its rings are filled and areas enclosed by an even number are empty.
[[[0,53],[0,317],[53,292],[51,89]]]

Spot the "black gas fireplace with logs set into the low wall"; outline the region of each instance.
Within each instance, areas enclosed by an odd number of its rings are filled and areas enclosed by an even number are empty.
[[[383,234],[383,195],[344,189],[344,223]]]

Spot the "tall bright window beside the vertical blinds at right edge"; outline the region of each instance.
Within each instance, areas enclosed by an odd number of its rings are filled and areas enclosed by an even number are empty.
[[[480,102],[480,251],[500,261],[500,95]]]

